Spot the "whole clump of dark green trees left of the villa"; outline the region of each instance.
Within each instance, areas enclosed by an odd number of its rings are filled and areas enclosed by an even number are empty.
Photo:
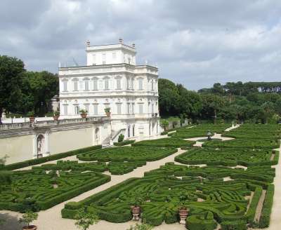
[[[54,95],[58,95],[56,74],[27,72],[22,60],[0,55],[0,117],[3,109],[13,116],[27,111],[44,114]]]

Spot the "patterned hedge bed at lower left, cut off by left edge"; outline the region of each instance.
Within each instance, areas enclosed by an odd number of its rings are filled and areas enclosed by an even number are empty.
[[[14,171],[11,178],[11,184],[0,192],[0,209],[18,212],[46,210],[110,181],[110,176],[99,172],[60,170],[58,173],[42,168]]]

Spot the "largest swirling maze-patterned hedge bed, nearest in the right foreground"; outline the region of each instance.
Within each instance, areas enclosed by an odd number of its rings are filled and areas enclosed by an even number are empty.
[[[200,177],[203,179],[200,180]],[[143,178],[131,178],[115,187],[90,196],[78,203],[67,203],[63,217],[73,218],[78,207],[98,212],[101,219],[110,222],[126,222],[131,219],[130,194],[145,197],[141,205],[142,217],[148,224],[159,225],[163,221],[178,221],[178,207],[184,203],[190,209],[188,224],[196,226],[198,218],[206,224],[217,222],[247,221],[247,199],[256,187],[268,188],[273,182],[275,169],[270,166],[248,168],[187,167],[166,163],[157,170],[145,172]],[[182,177],[179,179],[178,177]],[[232,181],[223,181],[230,177]],[[202,200],[202,202],[197,202]],[[208,215],[208,212],[212,214]],[[192,217],[194,216],[194,217]],[[209,221],[207,221],[209,219]],[[205,222],[203,222],[205,223]],[[195,228],[189,228],[195,229]]]

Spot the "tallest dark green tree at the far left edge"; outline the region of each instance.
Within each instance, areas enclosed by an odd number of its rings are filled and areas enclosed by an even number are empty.
[[[20,102],[20,86],[25,65],[16,57],[0,55],[0,124],[3,109],[11,111]]]

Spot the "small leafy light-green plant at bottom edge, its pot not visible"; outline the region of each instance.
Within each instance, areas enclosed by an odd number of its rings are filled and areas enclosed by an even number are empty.
[[[98,215],[95,212],[87,212],[84,208],[78,210],[75,219],[77,219],[75,225],[82,230],[87,230],[90,225],[98,223]]]

